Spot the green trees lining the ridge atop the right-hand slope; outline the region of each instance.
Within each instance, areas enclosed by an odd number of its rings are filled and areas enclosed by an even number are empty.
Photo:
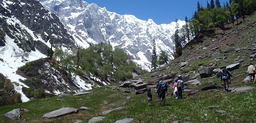
[[[214,32],[216,27],[222,29],[225,34],[225,24],[232,23],[234,27],[235,24],[240,23],[238,18],[251,16],[254,11],[256,11],[256,0],[229,0],[224,3],[220,3],[219,0],[207,0],[205,8],[198,1],[193,17],[189,21],[185,17],[185,25],[180,29],[179,25],[176,25],[174,58],[182,55],[184,45],[191,38]]]

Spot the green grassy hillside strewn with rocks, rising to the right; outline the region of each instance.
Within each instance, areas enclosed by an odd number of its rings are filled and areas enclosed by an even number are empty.
[[[157,76],[167,74],[174,71],[174,74],[186,75],[193,77],[198,73],[200,66],[209,67],[215,64],[216,68],[233,64],[234,61],[243,60],[237,70],[233,70],[232,88],[253,86],[242,82],[246,78],[246,70],[249,62],[256,62],[249,58],[254,53],[256,39],[256,15],[247,17],[241,24],[232,25],[229,30],[216,31],[216,35],[203,35],[203,38],[194,40],[194,44],[190,44],[184,49],[181,57],[173,60],[170,64],[163,68],[152,71],[143,75],[143,82],[156,82]],[[203,47],[207,47],[204,50]],[[216,48],[217,47],[217,48]],[[236,52],[236,49],[240,49]],[[228,51],[226,53],[226,51]],[[216,61],[220,59],[221,61]],[[181,62],[189,62],[189,64],[180,69]],[[147,95],[135,95],[133,93],[124,93],[116,89],[107,87],[94,88],[90,90],[92,94],[71,96],[71,97],[51,97],[44,99],[31,100],[26,103],[17,105],[7,105],[0,107],[0,121],[2,123],[74,123],[82,120],[87,123],[92,117],[103,116],[104,121],[98,123],[114,123],[124,118],[133,118],[133,123],[171,123],[173,121],[191,122],[191,123],[255,123],[256,119],[256,90],[250,90],[243,93],[223,92],[224,88],[212,89],[207,91],[199,91],[201,88],[212,85],[212,83],[220,84],[220,78],[215,76],[209,78],[197,78],[202,85],[185,86],[188,89],[194,89],[195,94],[188,96],[184,93],[184,99],[175,99],[175,97],[166,97],[166,105],[158,106],[157,95],[153,90],[153,105],[147,105]],[[119,86],[114,84],[112,86]],[[128,89],[128,88],[124,88]],[[133,90],[133,88],[129,88]],[[168,94],[172,93],[169,88]],[[132,97],[127,99],[127,97]],[[61,100],[57,100],[57,98]],[[208,109],[207,106],[219,106],[217,108]],[[86,106],[90,110],[79,110],[77,114],[69,114],[55,119],[42,118],[43,114],[62,107],[79,108]],[[114,111],[109,114],[102,115],[103,111],[124,106],[124,109]],[[24,114],[21,120],[10,120],[4,114],[15,109],[26,108],[29,113]],[[224,110],[221,114],[217,110]]]

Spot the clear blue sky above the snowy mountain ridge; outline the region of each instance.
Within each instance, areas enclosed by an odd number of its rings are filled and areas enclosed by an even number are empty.
[[[134,15],[142,20],[153,19],[156,24],[170,24],[175,19],[185,20],[192,18],[197,10],[197,1],[206,7],[207,0],[84,0],[105,7],[110,12],[119,15]],[[215,0],[214,0],[215,1]],[[219,0],[223,2],[229,0]],[[210,3],[210,0],[208,0]]]

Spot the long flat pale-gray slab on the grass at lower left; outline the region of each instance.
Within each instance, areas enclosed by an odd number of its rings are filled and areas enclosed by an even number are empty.
[[[67,114],[72,114],[72,113],[77,113],[77,112],[78,112],[78,109],[75,109],[72,107],[64,107],[64,108],[60,108],[58,110],[46,113],[42,117],[50,119],[50,118],[63,116],[63,115],[67,115]]]

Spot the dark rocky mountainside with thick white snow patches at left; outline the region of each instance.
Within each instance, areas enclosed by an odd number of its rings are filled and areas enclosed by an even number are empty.
[[[0,73],[11,80],[15,91],[21,94],[22,102],[30,100],[22,92],[23,87],[29,87],[21,82],[26,78],[16,71],[26,62],[46,58],[51,39],[55,45],[59,44],[66,49],[76,47],[74,39],[59,18],[45,9],[38,0],[0,0]],[[69,89],[70,85],[62,81],[61,76],[49,71],[45,73],[49,76],[48,79],[41,79],[44,84],[62,84]],[[72,84],[78,88],[77,91],[92,89],[91,84],[77,77]],[[52,89],[51,93],[61,92]]]

